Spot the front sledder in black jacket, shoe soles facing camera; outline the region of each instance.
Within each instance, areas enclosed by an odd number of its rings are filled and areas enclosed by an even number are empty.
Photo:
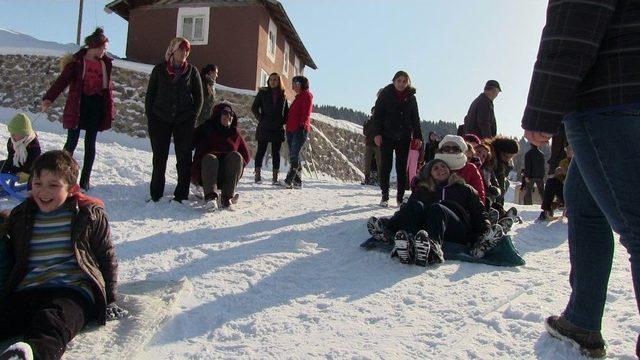
[[[417,189],[392,217],[367,222],[373,237],[394,241],[392,255],[402,263],[444,262],[445,241],[467,245],[474,257],[482,258],[502,238],[502,228],[490,225],[476,191],[444,160],[429,161],[417,179]]]

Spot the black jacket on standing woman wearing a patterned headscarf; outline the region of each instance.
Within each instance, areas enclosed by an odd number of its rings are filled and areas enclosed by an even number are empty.
[[[195,66],[188,64],[184,74],[172,80],[160,63],[151,71],[144,110],[147,119],[165,123],[195,123],[202,109],[202,80]]]

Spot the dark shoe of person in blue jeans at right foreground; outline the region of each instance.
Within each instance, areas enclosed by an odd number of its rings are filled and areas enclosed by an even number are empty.
[[[600,331],[579,328],[562,316],[549,316],[544,326],[556,339],[567,341],[587,357],[604,358],[607,350]]]

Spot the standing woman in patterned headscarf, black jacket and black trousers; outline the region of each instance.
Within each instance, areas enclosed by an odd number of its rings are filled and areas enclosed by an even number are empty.
[[[173,200],[182,202],[189,196],[193,126],[202,109],[202,81],[198,69],[187,62],[190,51],[189,40],[171,40],[165,61],[153,68],[149,78],[144,108],[153,151],[150,193],[154,202],[164,193],[171,137],[178,171]]]

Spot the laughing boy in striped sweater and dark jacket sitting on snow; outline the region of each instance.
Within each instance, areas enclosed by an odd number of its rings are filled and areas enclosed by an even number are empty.
[[[65,151],[42,154],[31,196],[6,219],[0,241],[14,263],[0,298],[0,341],[24,342],[1,360],[60,359],[89,320],[126,315],[115,304],[118,263],[104,204],[78,191],[78,169]]]

